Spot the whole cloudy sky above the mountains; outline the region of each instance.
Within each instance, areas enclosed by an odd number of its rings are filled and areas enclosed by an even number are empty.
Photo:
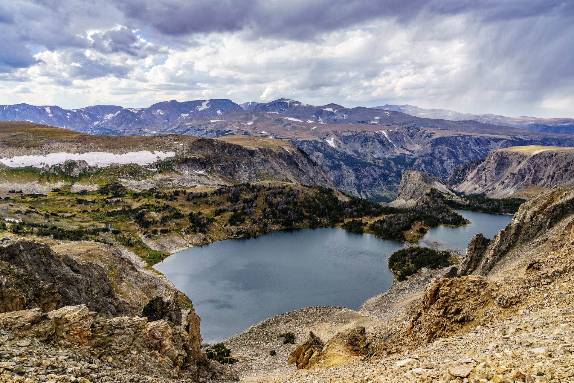
[[[574,0],[0,0],[0,104],[574,118]]]

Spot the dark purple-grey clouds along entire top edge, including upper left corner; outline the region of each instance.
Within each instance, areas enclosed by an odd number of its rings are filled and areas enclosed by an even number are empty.
[[[181,40],[196,33],[249,31],[251,38],[274,36],[309,40],[319,34],[377,18],[408,22],[421,12],[471,13],[493,20],[558,14],[572,17],[571,2],[557,0],[90,0],[76,2],[21,1],[0,5],[0,71],[26,68],[36,60],[28,45],[53,51],[91,48],[102,53],[145,57],[156,53],[137,44],[131,29],[149,29],[162,44],[192,44]],[[114,25],[127,28],[113,29]],[[107,28],[105,28],[107,26]],[[552,26],[547,26],[552,29]],[[93,34],[88,29],[106,32]],[[180,40],[177,40],[180,38]],[[172,39],[173,41],[170,41]],[[105,72],[105,71],[104,71]]]

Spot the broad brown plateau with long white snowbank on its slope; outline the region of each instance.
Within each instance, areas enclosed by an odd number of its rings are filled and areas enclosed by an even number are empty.
[[[20,145],[13,145],[14,141]],[[96,172],[108,181],[138,188],[145,179],[157,186],[218,187],[261,180],[335,187],[325,170],[285,140],[234,136],[203,138],[165,136],[95,136],[53,126],[0,121],[0,173],[12,177],[19,169],[87,177]],[[42,193],[51,191],[41,182]]]

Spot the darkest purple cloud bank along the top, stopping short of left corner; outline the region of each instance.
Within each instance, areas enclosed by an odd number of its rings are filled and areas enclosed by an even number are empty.
[[[117,0],[117,5],[139,28],[152,28],[168,36],[249,29],[254,37],[294,40],[314,38],[318,33],[376,18],[408,22],[421,11],[435,15],[475,13],[484,21],[549,14],[572,17],[573,13],[571,2],[559,0]]]

